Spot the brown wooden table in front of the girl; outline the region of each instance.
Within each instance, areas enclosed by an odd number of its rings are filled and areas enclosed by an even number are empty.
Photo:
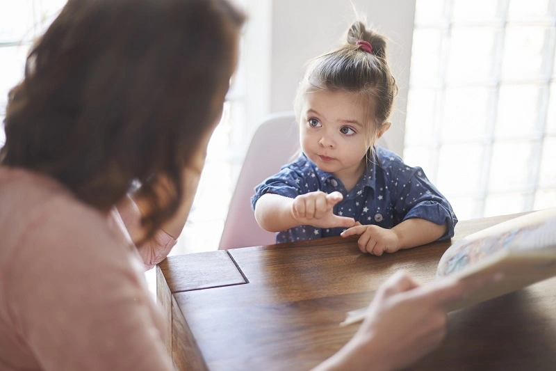
[[[517,215],[461,221],[452,242]],[[247,231],[246,231],[247,232]],[[338,326],[399,269],[432,281],[450,242],[381,257],[357,238],[167,258],[157,295],[180,370],[309,370],[349,340]],[[448,338],[410,370],[556,370],[556,279],[450,313]],[[369,365],[372,369],[372,365]]]

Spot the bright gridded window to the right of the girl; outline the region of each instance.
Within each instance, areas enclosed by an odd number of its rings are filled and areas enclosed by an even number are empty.
[[[556,206],[553,3],[416,1],[404,159],[460,220]]]

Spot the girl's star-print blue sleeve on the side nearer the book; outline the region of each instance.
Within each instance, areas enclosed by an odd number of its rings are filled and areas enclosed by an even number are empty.
[[[398,185],[394,207],[396,221],[399,223],[411,218],[425,219],[446,226],[446,232],[439,240],[453,237],[457,218],[452,206],[427,179],[422,168],[411,169],[411,177]]]

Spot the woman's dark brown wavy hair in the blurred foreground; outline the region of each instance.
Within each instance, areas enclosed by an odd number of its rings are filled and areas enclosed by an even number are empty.
[[[8,95],[1,164],[54,177],[98,210],[139,181],[152,235],[220,117],[243,22],[226,0],[68,1]]]

